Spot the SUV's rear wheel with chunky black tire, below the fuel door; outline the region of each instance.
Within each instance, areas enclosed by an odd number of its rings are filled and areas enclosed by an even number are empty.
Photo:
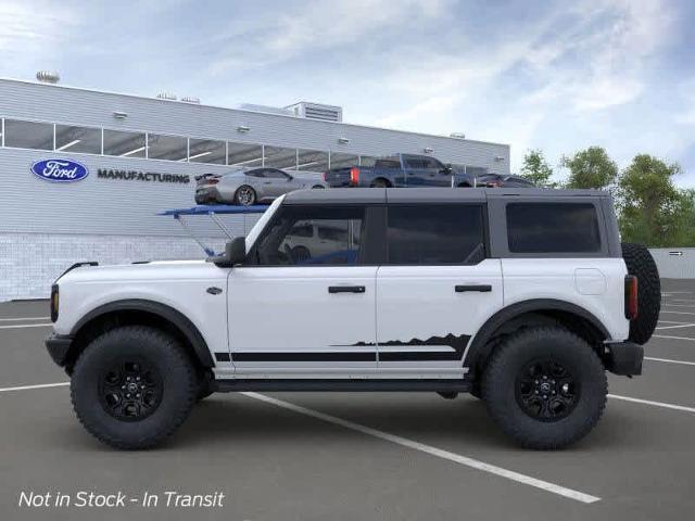
[[[606,371],[594,350],[564,328],[509,335],[482,379],[490,416],[520,445],[566,447],[586,435],[606,406]]]

